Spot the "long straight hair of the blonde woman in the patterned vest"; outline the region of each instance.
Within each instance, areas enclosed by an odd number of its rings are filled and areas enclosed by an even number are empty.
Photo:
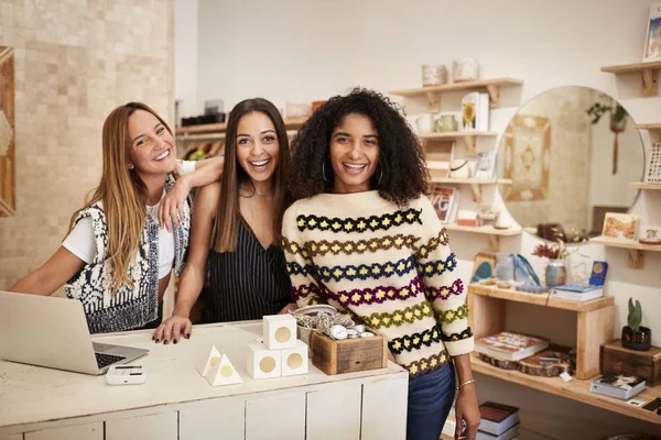
[[[76,211],[69,221],[69,232],[78,213],[97,202],[104,204],[108,222],[108,260],[112,267],[110,292],[112,295],[126,284],[133,288],[129,278],[129,264],[138,252],[142,229],[147,218],[147,186],[138,177],[136,169],[129,169],[131,140],[128,135],[129,118],[137,110],[153,114],[172,134],[165,121],[149,106],[142,102],[129,102],[118,107],[106,118],[102,133],[104,170],[101,182],[91,198]],[[176,170],[173,173],[177,178]]]

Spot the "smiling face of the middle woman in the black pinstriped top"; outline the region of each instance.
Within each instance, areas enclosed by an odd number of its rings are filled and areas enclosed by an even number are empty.
[[[280,143],[271,119],[259,111],[245,114],[237,127],[237,161],[253,183],[266,183],[278,167]]]

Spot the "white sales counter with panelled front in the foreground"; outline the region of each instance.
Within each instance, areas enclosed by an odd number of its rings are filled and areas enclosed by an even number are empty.
[[[400,440],[405,438],[408,373],[388,369],[253,381],[248,343],[261,321],[196,326],[189,340],[163,345],[151,331],[94,340],[145,348],[142,385],[105,376],[0,361],[0,440]],[[11,338],[4,334],[3,338]],[[195,362],[212,344],[243,383],[212,387]]]

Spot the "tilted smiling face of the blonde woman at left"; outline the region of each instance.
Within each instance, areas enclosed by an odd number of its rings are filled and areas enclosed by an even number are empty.
[[[174,138],[149,111],[136,110],[129,117],[129,168],[145,182],[149,177],[166,175],[176,167]]]

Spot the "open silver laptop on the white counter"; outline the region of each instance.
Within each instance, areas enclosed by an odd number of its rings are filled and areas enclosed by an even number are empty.
[[[0,292],[0,359],[85,374],[149,353],[91,342],[80,301]]]

